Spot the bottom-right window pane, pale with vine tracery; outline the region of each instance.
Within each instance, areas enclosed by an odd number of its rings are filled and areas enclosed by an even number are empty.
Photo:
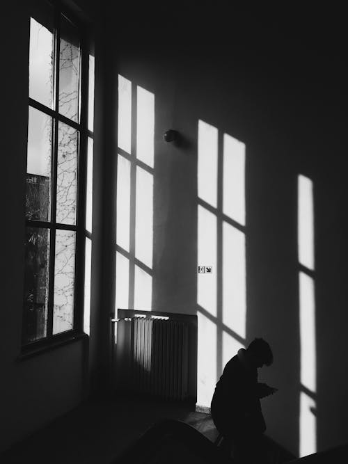
[[[75,232],[56,231],[53,333],[71,330],[74,322]]]

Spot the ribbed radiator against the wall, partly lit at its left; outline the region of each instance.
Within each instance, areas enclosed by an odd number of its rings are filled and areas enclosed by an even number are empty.
[[[132,317],[129,386],[166,399],[188,397],[189,323]]]

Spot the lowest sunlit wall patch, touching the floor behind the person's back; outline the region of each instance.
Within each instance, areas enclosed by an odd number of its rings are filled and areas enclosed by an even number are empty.
[[[216,324],[198,312],[197,404],[210,406],[216,384]]]

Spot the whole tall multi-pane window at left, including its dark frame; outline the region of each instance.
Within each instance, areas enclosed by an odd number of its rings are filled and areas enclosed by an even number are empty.
[[[64,12],[43,1],[33,11],[24,346],[89,330],[94,93],[89,49],[78,22]]]

